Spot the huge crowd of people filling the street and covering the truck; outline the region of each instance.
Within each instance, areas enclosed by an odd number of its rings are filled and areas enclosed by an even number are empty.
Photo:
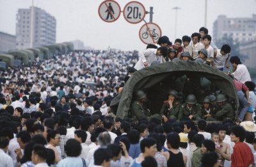
[[[200,28],[174,45],[161,36],[160,47],[141,53],[74,51],[1,71],[0,166],[254,166],[255,84],[230,46],[211,47],[207,33]],[[196,102],[175,88],[156,115],[147,115],[140,90],[131,118],[115,116],[111,100],[136,70],[180,60],[221,71],[232,63],[238,121],[223,93]]]

